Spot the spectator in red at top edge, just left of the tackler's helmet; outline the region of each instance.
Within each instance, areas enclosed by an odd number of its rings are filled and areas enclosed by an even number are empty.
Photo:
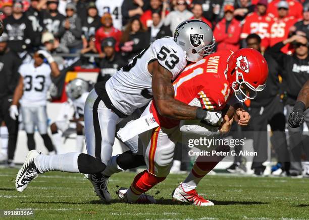
[[[162,0],[150,0],[150,9],[146,10],[140,16],[140,21],[142,22],[144,27],[148,28],[151,26],[153,12],[161,12],[161,19],[164,20],[167,11],[166,11],[166,7],[162,7]]]

